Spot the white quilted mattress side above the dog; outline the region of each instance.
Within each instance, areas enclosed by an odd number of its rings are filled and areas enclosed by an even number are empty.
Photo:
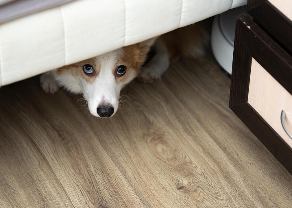
[[[131,45],[246,0],[77,0],[0,25],[0,86]]]

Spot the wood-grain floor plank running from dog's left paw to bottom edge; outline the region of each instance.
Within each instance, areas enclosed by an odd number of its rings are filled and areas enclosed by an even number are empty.
[[[41,92],[27,92],[36,91]],[[72,102],[77,99],[66,99],[64,92],[56,96],[62,103],[48,103],[48,97],[53,98],[41,93],[37,101],[30,101],[31,107],[17,99],[12,102],[25,109],[18,118],[22,132],[44,155],[74,207],[145,207],[98,144],[102,137],[91,131],[83,112],[74,111]]]

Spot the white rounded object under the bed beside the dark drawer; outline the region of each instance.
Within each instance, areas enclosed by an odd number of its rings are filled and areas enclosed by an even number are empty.
[[[230,9],[215,16],[211,34],[214,57],[225,71],[231,74],[236,16],[245,13],[246,6]]]

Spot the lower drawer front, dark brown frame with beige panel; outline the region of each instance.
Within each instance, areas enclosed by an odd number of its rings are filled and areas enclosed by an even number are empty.
[[[292,57],[247,15],[237,17],[230,108],[292,174]]]

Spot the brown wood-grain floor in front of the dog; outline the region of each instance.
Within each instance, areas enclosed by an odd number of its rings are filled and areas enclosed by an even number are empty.
[[[0,207],[292,207],[292,176],[228,108],[213,58],[132,83],[110,119],[38,78],[0,90]]]

